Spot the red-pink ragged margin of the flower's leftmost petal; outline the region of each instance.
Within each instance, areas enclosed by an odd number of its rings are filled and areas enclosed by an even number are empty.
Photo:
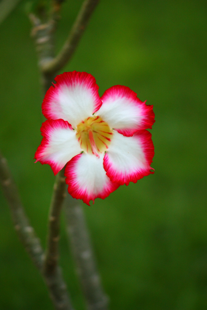
[[[44,123],[42,123],[42,126],[40,128],[41,135],[43,136],[41,144],[38,146],[37,151],[35,152],[34,159],[36,159],[36,162],[40,162],[43,164],[48,164],[51,166],[52,171],[54,172],[54,175],[56,175],[65,165],[59,166],[56,162],[48,159],[44,159],[45,157],[45,151],[50,143],[50,136],[52,134],[52,130],[55,128],[68,128],[72,129],[71,125],[62,119],[58,120],[46,120]]]

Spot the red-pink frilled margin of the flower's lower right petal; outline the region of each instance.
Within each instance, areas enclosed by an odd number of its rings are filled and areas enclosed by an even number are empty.
[[[104,156],[104,169],[106,171],[106,175],[110,178],[112,182],[117,182],[120,185],[128,185],[129,182],[137,183],[137,180],[142,179],[144,176],[153,174],[154,170],[150,167],[152,163],[152,158],[155,154],[154,145],[151,139],[151,133],[147,130],[137,131],[133,137],[137,138],[139,143],[142,145],[142,150],[145,156],[145,168],[134,167],[133,172],[126,173],[122,171],[117,171],[113,168],[113,163],[110,161],[109,154],[105,154]]]

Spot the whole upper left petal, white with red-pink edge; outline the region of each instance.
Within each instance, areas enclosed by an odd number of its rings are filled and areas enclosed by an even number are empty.
[[[95,78],[86,72],[64,72],[55,78],[43,100],[43,115],[50,119],[62,118],[73,128],[101,106]]]

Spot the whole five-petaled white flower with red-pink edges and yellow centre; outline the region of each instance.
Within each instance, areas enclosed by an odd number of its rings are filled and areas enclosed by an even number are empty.
[[[149,175],[154,156],[152,105],[126,86],[116,85],[100,98],[95,78],[86,72],[56,76],[43,100],[47,120],[36,162],[49,164],[56,175],[66,164],[72,197],[104,199],[119,185]]]

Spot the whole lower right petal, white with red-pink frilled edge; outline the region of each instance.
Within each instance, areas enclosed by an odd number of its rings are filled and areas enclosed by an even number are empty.
[[[149,131],[137,131],[132,137],[114,131],[103,165],[112,182],[128,185],[154,173],[150,171],[153,156],[154,145]]]

